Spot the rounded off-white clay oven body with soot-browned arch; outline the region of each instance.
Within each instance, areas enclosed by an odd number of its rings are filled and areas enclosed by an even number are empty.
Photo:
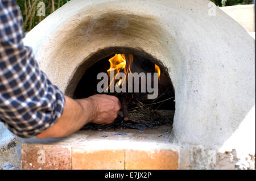
[[[90,66],[112,54],[154,60],[175,90],[168,149],[178,155],[178,166],[172,168],[250,167],[255,159],[255,40],[217,7],[210,14],[210,7],[207,0],[73,0],[24,42],[69,96]]]

